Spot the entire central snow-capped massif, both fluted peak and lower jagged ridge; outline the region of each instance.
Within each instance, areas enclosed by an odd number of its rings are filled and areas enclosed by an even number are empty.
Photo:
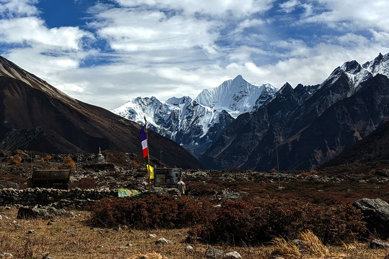
[[[112,110],[144,124],[200,157],[218,139],[234,117],[260,107],[277,89],[270,84],[249,83],[241,75],[215,89],[204,90],[195,100],[172,97],[135,98]]]

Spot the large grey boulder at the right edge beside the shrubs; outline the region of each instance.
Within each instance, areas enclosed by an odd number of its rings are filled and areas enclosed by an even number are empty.
[[[355,201],[353,206],[368,217],[366,227],[371,233],[376,233],[383,239],[389,237],[389,204],[379,198],[364,198]]]

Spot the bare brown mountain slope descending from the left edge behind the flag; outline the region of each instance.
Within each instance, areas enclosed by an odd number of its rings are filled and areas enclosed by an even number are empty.
[[[142,154],[141,125],[75,100],[0,57],[0,149],[47,153],[97,153],[112,149]],[[149,131],[150,156],[183,168],[200,168],[177,143]]]

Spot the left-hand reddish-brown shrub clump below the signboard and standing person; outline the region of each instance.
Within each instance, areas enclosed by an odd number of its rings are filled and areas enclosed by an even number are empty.
[[[104,227],[127,225],[138,229],[179,228],[203,224],[214,209],[209,202],[198,202],[189,197],[179,200],[155,195],[139,200],[104,198],[91,207],[91,223]]]

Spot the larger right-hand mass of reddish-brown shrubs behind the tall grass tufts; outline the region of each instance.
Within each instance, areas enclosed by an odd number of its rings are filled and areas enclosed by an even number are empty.
[[[311,230],[324,243],[352,241],[366,233],[361,212],[351,205],[318,206],[290,201],[225,201],[208,225],[191,235],[206,242],[255,245],[274,237],[296,238]]]

